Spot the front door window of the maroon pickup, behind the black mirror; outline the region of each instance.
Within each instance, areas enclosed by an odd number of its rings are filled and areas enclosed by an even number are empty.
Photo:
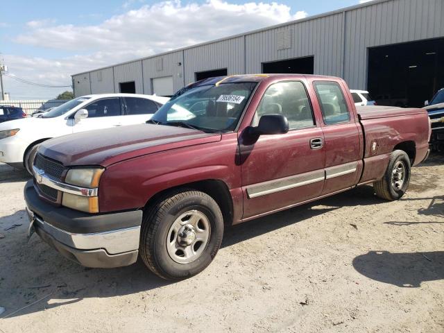
[[[289,121],[289,129],[314,126],[313,112],[302,82],[279,82],[266,89],[256,110],[253,126],[264,114],[282,114]]]

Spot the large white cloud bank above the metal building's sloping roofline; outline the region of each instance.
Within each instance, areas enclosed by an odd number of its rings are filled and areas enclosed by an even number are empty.
[[[128,0],[128,6],[135,1],[142,0]],[[221,0],[202,4],[163,1],[115,15],[97,25],[28,22],[28,31],[14,37],[15,42],[77,55],[57,60],[6,55],[5,60],[18,77],[45,84],[70,84],[70,75],[80,71],[306,16],[305,11],[292,14],[289,6],[276,2],[239,5]]]

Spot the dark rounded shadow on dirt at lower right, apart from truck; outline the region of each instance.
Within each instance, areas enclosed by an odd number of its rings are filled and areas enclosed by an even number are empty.
[[[444,251],[370,251],[353,259],[353,266],[367,278],[397,287],[417,288],[421,282],[444,279]]]

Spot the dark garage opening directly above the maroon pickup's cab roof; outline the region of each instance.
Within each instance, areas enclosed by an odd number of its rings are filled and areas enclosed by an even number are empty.
[[[314,57],[262,62],[264,74],[313,74]]]

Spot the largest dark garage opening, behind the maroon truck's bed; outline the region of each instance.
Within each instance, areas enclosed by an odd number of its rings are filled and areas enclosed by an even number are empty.
[[[444,87],[444,38],[368,49],[367,87],[379,105],[424,106]]]

